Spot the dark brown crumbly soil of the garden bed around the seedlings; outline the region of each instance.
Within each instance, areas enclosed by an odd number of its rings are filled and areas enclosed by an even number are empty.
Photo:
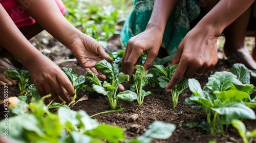
[[[39,41],[39,44],[37,45],[38,49],[41,50],[42,46],[45,47],[47,50],[42,51],[46,51],[46,54],[54,62],[60,63],[61,60],[64,60],[65,58],[73,58],[71,52],[65,46],[61,45],[54,38],[52,38],[51,35],[43,33],[38,36],[40,37],[42,35],[47,39],[48,42]],[[31,42],[38,43],[37,39],[41,38],[34,38],[31,40]],[[115,38],[109,41],[108,52],[114,52],[120,50],[120,48],[121,46],[117,35]],[[76,61],[62,62],[59,64],[59,66],[74,68],[76,64],[78,64]],[[201,86],[203,87],[207,83],[209,75],[214,74],[215,71],[228,71],[230,67],[231,65],[225,59],[219,59],[217,65],[212,68],[209,73],[206,73],[198,78]],[[76,74],[85,75],[84,70],[79,65],[77,66]],[[126,89],[129,89],[128,83],[124,83],[123,86]],[[2,92],[4,88],[0,87],[0,90]],[[166,93],[164,89],[161,89],[160,87],[147,86],[144,88],[144,90],[151,91],[153,94],[145,97],[144,103],[141,106],[138,106],[137,101],[120,101],[119,104],[123,108],[126,108],[126,110],[122,112],[101,114],[93,118],[97,119],[100,123],[124,128],[125,136],[129,139],[142,135],[147,130],[147,127],[154,121],[162,121],[175,124],[176,130],[167,140],[154,139],[152,142],[208,142],[210,140],[216,142],[242,142],[237,130],[231,126],[227,128],[225,136],[222,137],[209,135],[204,130],[198,128],[189,129],[186,127],[185,125],[187,123],[201,123],[202,121],[206,120],[206,114],[203,111],[193,110],[184,104],[184,100],[191,95],[191,92],[188,89],[180,95],[178,106],[175,109],[173,109],[172,101],[170,101],[170,93]],[[8,92],[9,97],[19,96],[17,86],[8,87]],[[71,107],[71,109],[85,110],[89,115],[110,110],[109,102],[103,95],[84,89],[80,91],[78,99],[84,95],[88,96],[89,99],[76,103]],[[0,100],[3,100],[2,96]],[[3,111],[3,106],[1,106],[0,109]],[[254,112],[256,112],[256,110],[254,110]],[[2,114],[3,112],[0,114],[1,118],[3,117]],[[131,116],[134,114],[138,114],[138,118],[132,118]],[[243,122],[249,131],[256,128],[255,120],[244,120]],[[256,138],[254,138],[253,141],[256,142]]]

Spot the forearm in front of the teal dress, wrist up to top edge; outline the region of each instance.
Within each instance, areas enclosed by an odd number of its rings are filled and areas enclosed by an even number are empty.
[[[178,0],[155,0],[152,15],[147,23],[147,28],[157,28],[164,32],[166,22]]]

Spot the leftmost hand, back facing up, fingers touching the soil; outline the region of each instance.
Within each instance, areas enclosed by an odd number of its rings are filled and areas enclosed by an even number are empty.
[[[65,101],[69,104],[72,101],[70,97],[75,96],[75,91],[69,78],[50,59],[39,55],[25,66],[41,97],[51,94],[51,99],[58,103]]]

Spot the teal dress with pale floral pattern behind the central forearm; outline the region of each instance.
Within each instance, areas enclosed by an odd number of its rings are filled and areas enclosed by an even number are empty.
[[[125,47],[131,37],[145,30],[153,6],[154,0],[135,0],[133,10],[120,32],[122,46]],[[189,31],[189,23],[199,14],[200,7],[196,0],[178,0],[167,20],[162,42],[162,47],[166,49],[171,58],[176,54],[179,43]]]

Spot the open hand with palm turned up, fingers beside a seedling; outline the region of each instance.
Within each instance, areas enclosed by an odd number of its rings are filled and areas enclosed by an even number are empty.
[[[112,62],[113,59],[99,42],[88,35],[81,34],[71,42],[69,49],[84,70],[92,71],[100,80],[106,79],[105,75],[95,68],[95,63],[103,59]]]

